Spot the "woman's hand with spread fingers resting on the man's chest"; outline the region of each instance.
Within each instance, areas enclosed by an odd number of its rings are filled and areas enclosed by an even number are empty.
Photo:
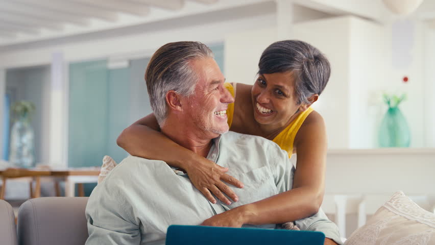
[[[211,193],[228,205],[231,204],[231,202],[224,194],[230,197],[234,202],[238,201],[237,195],[224,182],[238,188],[243,188],[243,183],[225,174],[228,171],[228,167],[221,167],[206,158],[201,158],[195,163],[184,166],[184,170],[186,170],[189,175],[192,184],[194,184],[210,202],[216,203]]]

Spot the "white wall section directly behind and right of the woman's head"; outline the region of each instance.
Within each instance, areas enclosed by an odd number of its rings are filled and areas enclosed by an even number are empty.
[[[329,148],[349,147],[349,28],[348,17],[308,21],[294,27],[295,38],[317,47],[331,64],[328,85],[313,104],[313,108],[325,119]]]

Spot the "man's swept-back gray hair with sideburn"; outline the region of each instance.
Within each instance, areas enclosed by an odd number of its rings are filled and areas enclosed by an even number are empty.
[[[213,52],[207,45],[191,41],[167,43],[151,57],[145,81],[160,127],[167,117],[166,93],[174,90],[183,96],[193,95],[199,77],[189,63],[208,57],[213,58]]]

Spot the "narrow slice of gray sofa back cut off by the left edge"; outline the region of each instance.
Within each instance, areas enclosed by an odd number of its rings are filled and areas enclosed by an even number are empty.
[[[14,211],[4,200],[0,200],[0,241],[2,245],[17,245]]]

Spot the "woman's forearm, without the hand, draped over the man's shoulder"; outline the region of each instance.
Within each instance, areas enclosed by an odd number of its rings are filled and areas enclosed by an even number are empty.
[[[189,159],[199,157],[161,132],[140,124],[125,129],[116,143],[132,156],[162,160],[173,167],[185,168],[192,162]]]

